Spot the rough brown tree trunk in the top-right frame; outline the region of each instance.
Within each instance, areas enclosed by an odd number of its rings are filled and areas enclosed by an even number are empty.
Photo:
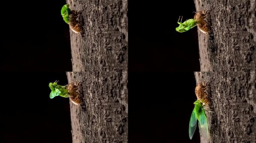
[[[255,70],[255,0],[194,1],[196,11],[209,10],[210,32],[198,30],[201,71]]]

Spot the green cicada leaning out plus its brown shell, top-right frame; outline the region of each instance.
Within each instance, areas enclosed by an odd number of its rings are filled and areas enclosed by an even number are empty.
[[[206,17],[206,12],[205,10],[200,10],[199,12],[195,13],[195,16],[193,19],[188,19],[185,22],[182,23],[182,19],[178,20],[179,27],[176,28],[177,32],[186,32],[189,29],[195,27],[197,25],[198,29],[202,31],[203,33],[208,33],[208,25],[207,22],[205,22],[205,17]]]

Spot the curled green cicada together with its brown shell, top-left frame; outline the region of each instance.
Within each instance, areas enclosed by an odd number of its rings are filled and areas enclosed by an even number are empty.
[[[71,10],[68,7],[69,7],[69,4],[65,4],[61,8],[61,15],[63,17],[63,20],[69,25],[72,31],[74,31],[75,33],[80,33],[81,26],[80,26],[80,23],[76,20],[78,14],[76,11]]]

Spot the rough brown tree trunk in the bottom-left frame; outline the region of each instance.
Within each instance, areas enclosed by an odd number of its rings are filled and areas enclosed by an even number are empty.
[[[68,83],[80,82],[82,103],[70,101],[73,143],[127,143],[127,71],[67,72]]]

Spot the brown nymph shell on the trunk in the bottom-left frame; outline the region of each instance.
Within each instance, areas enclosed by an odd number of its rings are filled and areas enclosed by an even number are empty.
[[[81,104],[82,101],[80,99],[79,93],[77,92],[78,86],[74,83],[69,83],[66,89],[68,90],[68,96],[71,102],[73,102],[76,105]]]

